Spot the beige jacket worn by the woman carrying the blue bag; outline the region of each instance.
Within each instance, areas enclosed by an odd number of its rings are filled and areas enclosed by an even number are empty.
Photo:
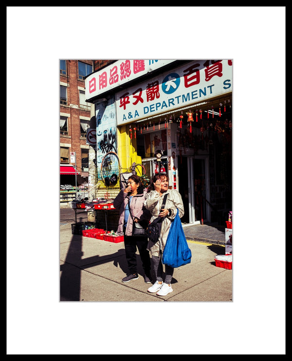
[[[151,190],[146,194],[144,202],[144,206],[151,213],[150,222],[158,217],[166,193],[168,195],[164,208],[171,209],[171,214],[164,218],[159,240],[155,244],[151,241],[148,242],[148,249],[150,250],[151,255],[157,257],[159,256],[159,251],[161,250],[163,252],[164,250],[171,222],[174,220],[177,212],[179,211],[180,218],[184,215],[182,196],[176,189],[167,189],[162,196],[160,196],[159,192],[156,190]]]

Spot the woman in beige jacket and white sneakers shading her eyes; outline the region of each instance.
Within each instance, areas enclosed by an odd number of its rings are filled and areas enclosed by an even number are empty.
[[[165,194],[167,194],[166,203],[164,208],[161,209]],[[157,292],[157,295],[165,296],[173,291],[171,280],[174,269],[165,265],[165,279],[163,282],[162,254],[171,222],[174,220],[177,212],[179,212],[180,218],[183,217],[183,200],[181,194],[176,189],[168,189],[168,175],[166,173],[155,174],[145,199],[144,206],[150,211],[152,216],[150,222],[157,217],[164,218],[159,240],[156,243],[153,243],[150,240],[148,241],[148,248],[150,249],[152,256],[152,264],[156,277],[154,285],[148,288],[148,292]]]

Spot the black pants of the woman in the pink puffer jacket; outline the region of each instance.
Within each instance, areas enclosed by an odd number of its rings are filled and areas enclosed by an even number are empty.
[[[149,276],[151,263],[149,251],[147,250],[147,237],[124,236],[124,244],[130,274],[137,273],[136,251],[138,248],[144,272]]]

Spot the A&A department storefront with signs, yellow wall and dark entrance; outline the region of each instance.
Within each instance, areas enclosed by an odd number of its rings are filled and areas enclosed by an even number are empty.
[[[97,162],[114,150],[122,169],[138,161],[149,178],[162,170],[169,187],[182,195],[183,224],[224,224],[232,209],[232,61],[166,62],[119,87],[112,80],[113,88],[102,100],[102,93],[95,101],[91,94]],[[114,70],[134,72],[133,60],[116,63],[93,73],[88,86],[93,78],[95,86],[100,84],[102,74],[110,80]],[[110,136],[106,142],[105,132]],[[159,162],[157,152],[162,154]]]

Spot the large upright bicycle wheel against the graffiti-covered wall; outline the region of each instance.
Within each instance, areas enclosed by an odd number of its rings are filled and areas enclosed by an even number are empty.
[[[120,160],[116,153],[109,152],[102,158],[100,173],[108,187],[116,185],[120,176]]]

